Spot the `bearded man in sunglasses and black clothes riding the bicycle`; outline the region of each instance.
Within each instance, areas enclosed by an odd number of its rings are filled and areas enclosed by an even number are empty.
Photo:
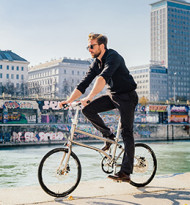
[[[79,98],[95,77],[96,81],[91,92],[81,100],[84,108],[83,114],[98,129],[103,137],[114,140],[115,135],[104,124],[98,113],[117,108],[121,115],[121,135],[123,138],[125,153],[121,170],[116,175],[108,177],[114,180],[130,181],[133,171],[134,138],[133,121],[134,111],[138,103],[135,92],[136,83],[125,66],[124,59],[116,51],[107,49],[107,37],[101,34],[89,34],[88,47],[94,62],[81,83],[75,88],[68,100],[63,104],[72,103]],[[107,85],[108,94],[93,98]],[[89,104],[87,102],[90,102]],[[109,150],[111,143],[106,142],[102,150]]]

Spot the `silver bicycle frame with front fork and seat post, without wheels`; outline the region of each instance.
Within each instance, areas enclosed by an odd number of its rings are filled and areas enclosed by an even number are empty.
[[[121,127],[121,121],[120,121],[120,119],[119,119],[118,126],[117,126],[116,138],[115,138],[115,141],[114,141],[114,140],[110,140],[110,139],[107,139],[107,138],[104,138],[104,137],[99,137],[99,136],[96,136],[96,135],[93,135],[93,134],[84,132],[84,131],[82,131],[82,130],[77,130],[77,129],[76,129],[76,126],[77,126],[77,124],[78,124],[78,114],[79,114],[79,110],[80,110],[80,106],[76,106],[75,116],[74,116],[74,118],[72,119],[72,126],[71,126],[71,130],[70,130],[70,137],[68,138],[68,142],[67,142],[68,155],[67,155],[67,158],[66,158],[66,163],[65,163],[64,169],[66,169],[67,163],[68,163],[68,161],[69,161],[69,157],[70,157],[70,154],[71,154],[71,151],[72,151],[72,144],[76,144],[76,145],[79,145],[79,146],[82,146],[82,147],[86,147],[86,148],[89,148],[89,149],[98,151],[99,153],[102,153],[104,156],[106,156],[106,157],[110,160],[110,163],[116,162],[116,161],[118,160],[118,158],[121,156],[121,154],[124,152],[124,149],[123,149],[122,146],[118,143],[118,142],[119,142],[119,136],[120,136],[120,133],[121,133],[121,129],[120,129],[120,127]],[[74,140],[73,140],[73,138],[74,138],[74,133],[84,134],[84,135],[90,136],[90,137],[92,137],[92,138],[96,138],[96,139],[102,140],[102,141],[104,141],[104,142],[110,142],[110,143],[114,144],[112,156],[110,156],[107,152],[105,152],[105,151],[103,151],[102,149],[99,149],[99,148],[97,148],[97,147],[90,146],[90,145],[87,145],[87,144],[84,144],[84,143],[81,143],[81,142],[76,142],[76,141],[74,141]],[[117,158],[115,159],[117,147],[121,148],[121,152],[119,153],[119,155],[118,155]],[[63,159],[63,160],[64,160],[64,159]],[[62,161],[63,161],[63,160],[62,160]],[[114,164],[114,165],[115,165],[115,164]],[[115,167],[114,167],[114,170],[115,170]]]

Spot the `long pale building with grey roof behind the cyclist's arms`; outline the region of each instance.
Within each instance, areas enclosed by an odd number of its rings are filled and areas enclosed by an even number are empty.
[[[29,68],[30,96],[67,98],[89,69],[90,60],[62,58]]]

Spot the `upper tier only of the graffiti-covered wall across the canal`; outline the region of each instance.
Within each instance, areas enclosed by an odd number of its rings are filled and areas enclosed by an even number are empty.
[[[0,123],[71,123],[74,111],[62,110],[60,101],[13,101],[0,100]],[[102,113],[106,123],[118,121],[119,113],[112,110]],[[135,110],[136,123],[189,123],[190,111],[187,105],[138,104]],[[79,123],[88,123],[80,113]]]

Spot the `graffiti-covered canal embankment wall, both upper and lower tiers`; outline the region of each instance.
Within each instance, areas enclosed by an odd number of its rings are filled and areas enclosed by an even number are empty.
[[[3,138],[6,141],[25,142],[65,139],[70,131],[71,119],[75,111],[62,110],[59,108],[59,103],[60,101],[51,100],[0,100],[0,142]],[[119,112],[112,110],[101,113],[100,116],[115,133],[120,117]],[[101,133],[90,124],[81,112],[79,112],[78,122],[78,129],[101,136]],[[162,129],[156,124],[190,123],[190,109],[187,105],[137,105],[135,123],[135,138],[151,138],[159,133],[161,133],[160,136],[165,136],[165,131],[162,132]],[[4,126],[3,124],[10,125]],[[22,126],[11,124],[22,124]],[[25,126],[26,124],[30,125]],[[38,128],[32,127],[33,124],[39,125]],[[42,125],[48,124],[51,124],[50,127],[43,128]],[[75,137],[89,139],[88,136],[81,134],[76,134]]]

